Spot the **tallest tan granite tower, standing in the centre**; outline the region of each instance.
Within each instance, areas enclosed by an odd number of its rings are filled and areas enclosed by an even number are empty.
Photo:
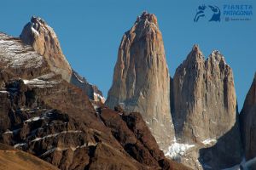
[[[140,112],[162,150],[172,143],[170,77],[154,14],[144,12],[125,32],[106,105]]]

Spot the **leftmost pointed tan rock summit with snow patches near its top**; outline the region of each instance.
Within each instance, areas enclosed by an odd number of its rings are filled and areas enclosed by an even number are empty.
[[[67,82],[70,81],[72,69],[62,54],[55,31],[43,19],[32,16],[31,21],[24,26],[20,39],[32,45],[38,54],[44,55],[52,71],[61,74]]]

